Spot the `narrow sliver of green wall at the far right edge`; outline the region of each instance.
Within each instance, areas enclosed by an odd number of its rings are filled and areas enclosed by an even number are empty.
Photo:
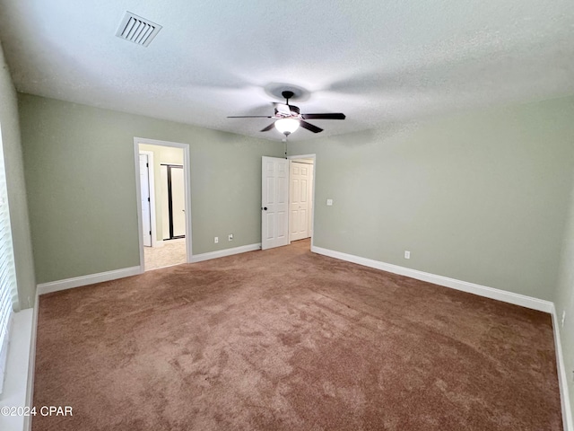
[[[570,213],[562,243],[561,270],[554,304],[560,325],[562,356],[569,383],[570,409],[574,411],[574,382],[571,379],[571,373],[574,370],[574,181],[572,185]],[[562,325],[563,312],[566,314]]]

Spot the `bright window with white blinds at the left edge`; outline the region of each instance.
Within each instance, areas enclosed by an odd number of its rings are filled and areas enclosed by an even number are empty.
[[[13,305],[16,304],[18,297],[16,289],[8,190],[4,171],[4,146],[2,145],[2,129],[0,129],[0,393],[4,387]]]

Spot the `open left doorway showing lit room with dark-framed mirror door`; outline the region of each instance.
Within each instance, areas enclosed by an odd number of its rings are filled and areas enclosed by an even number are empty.
[[[140,266],[187,263],[191,256],[189,147],[135,138]]]

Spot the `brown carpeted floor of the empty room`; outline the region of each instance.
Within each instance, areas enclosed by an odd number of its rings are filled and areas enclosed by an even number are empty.
[[[550,315],[309,242],[43,295],[33,431],[561,430]]]

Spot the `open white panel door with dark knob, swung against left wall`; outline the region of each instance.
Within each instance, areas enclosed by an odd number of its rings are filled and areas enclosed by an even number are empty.
[[[261,161],[261,249],[289,243],[288,160],[263,157]]]

